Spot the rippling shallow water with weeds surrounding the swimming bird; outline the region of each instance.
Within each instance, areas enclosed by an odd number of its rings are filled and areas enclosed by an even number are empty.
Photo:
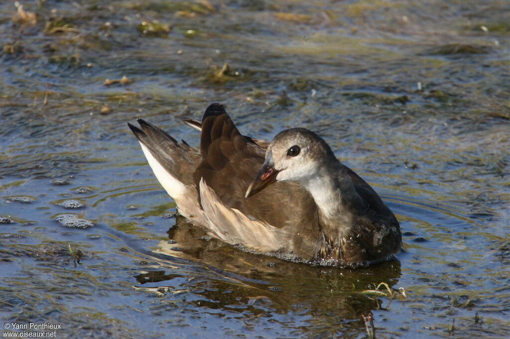
[[[375,337],[508,336],[507,2],[21,5],[0,4],[0,326],[366,337],[371,312]],[[245,135],[322,135],[397,215],[398,260],[290,263],[176,217],[126,122],[196,146],[182,119],[213,102]]]

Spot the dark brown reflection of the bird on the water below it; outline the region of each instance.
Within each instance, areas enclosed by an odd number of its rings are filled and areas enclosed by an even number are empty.
[[[226,307],[231,311],[233,305],[264,303],[269,305],[270,314],[292,312],[307,315],[314,322],[337,325],[355,320],[347,327],[352,329],[354,325],[364,329],[361,316],[374,309],[385,308],[389,299],[362,291],[373,290],[382,282],[391,288],[401,274],[397,260],[367,268],[342,269],[248,253],[207,238],[203,230],[186,222],[183,217],[177,216],[176,221],[168,230],[169,241],[161,241],[155,252],[199,262],[215,272],[215,278],[206,274],[189,281],[191,290],[209,299],[209,302],[202,301],[200,306]],[[152,283],[149,285],[154,286],[157,283],[161,286],[165,285],[161,284],[163,281],[183,277],[182,273],[174,271],[151,271],[136,278],[141,284]],[[239,311],[243,309],[240,307]]]

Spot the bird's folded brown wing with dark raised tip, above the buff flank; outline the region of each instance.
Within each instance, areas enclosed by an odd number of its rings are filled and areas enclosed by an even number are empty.
[[[202,161],[193,174],[197,187],[203,178],[226,206],[290,231],[296,255],[315,256],[321,236],[317,206],[304,188],[276,182],[244,197],[264,162],[265,151],[239,132],[222,105],[210,105],[203,115],[200,152]]]

